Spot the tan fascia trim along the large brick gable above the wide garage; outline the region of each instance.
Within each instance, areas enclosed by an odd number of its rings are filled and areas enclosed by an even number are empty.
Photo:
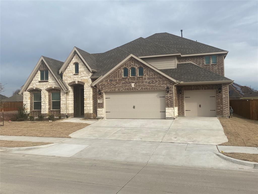
[[[166,78],[177,82],[177,80],[175,80],[174,78],[168,76],[167,74],[163,73],[162,71],[158,70],[157,68],[155,68],[154,66],[150,65],[149,63],[143,61],[142,59],[140,59],[139,57],[136,57],[133,54],[128,55],[125,59],[123,59],[123,61],[121,61],[120,63],[118,63],[115,67],[113,67],[111,70],[109,70],[106,74],[104,74],[102,77],[100,77],[100,79],[94,81],[92,83],[92,86],[98,84],[101,80],[103,80],[105,77],[107,77],[112,71],[114,71],[115,69],[117,69],[120,65],[122,65],[124,62],[126,62],[130,57],[134,57],[135,59],[137,59],[138,61],[142,62],[143,64],[147,65],[149,68],[157,71],[158,73],[162,74],[163,76],[165,76]]]

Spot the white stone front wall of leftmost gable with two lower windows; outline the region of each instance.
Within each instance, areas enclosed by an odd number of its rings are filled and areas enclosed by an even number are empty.
[[[30,81],[28,87],[23,92],[23,103],[25,104],[26,110],[30,111],[32,116],[37,117],[39,114],[43,114],[47,117],[49,114],[49,94],[46,89],[49,88],[60,88],[57,80],[55,80],[52,73],[49,71],[49,79],[41,81],[40,80],[40,70],[48,70],[45,63],[42,61],[38,70],[34,74],[33,79]],[[39,92],[38,90],[33,90],[34,88],[41,89],[41,111],[33,110],[33,92]],[[65,92],[61,90],[61,98],[65,95]],[[31,98],[32,96],[32,98]],[[32,102],[32,103],[31,103]],[[62,107],[62,104],[61,104]]]

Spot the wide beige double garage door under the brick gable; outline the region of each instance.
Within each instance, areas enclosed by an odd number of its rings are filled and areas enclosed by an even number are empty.
[[[106,118],[165,118],[165,91],[105,92]]]

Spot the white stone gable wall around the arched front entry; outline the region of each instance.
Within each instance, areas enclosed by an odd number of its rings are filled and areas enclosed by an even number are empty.
[[[75,74],[75,63],[79,64],[79,73]],[[82,62],[82,59],[74,53],[67,67],[63,71],[63,81],[65,83],[74,82],[75,84],[78,81],[82,81],[84,83],[84,114],[85,113],[93,113],[93,89],[91,86],[91,75],[92,73]],[[68,86],[70,92],[67,94],[67,113],[68,116],[73,117],[74,115],[74,86]],[[61,111],[61,113],[63,113]]]

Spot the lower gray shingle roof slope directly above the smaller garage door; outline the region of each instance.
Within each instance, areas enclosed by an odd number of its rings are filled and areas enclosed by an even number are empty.
[[[229,81],[229,78],[208,71],[192,63],[179,63],[176,69],[160,69],[168,76],[183,82]]]

